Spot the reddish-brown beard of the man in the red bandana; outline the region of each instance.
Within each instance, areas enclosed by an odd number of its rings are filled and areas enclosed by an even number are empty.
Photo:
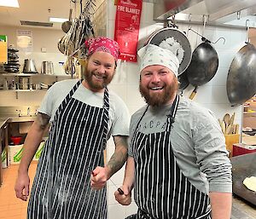
[[[98,82],[95,83],[92,79],[93,75],[96,74],[96,70],[90,72],[88,68],[86,67],[86,70],[84,71],[84,79],[86,80],[87,84],[89,84],[91,89],[104,89],[107,87],[107,85],[112,81],[113,75],[112,76],[107,76],[107,78],[103,78],[102,83]]]

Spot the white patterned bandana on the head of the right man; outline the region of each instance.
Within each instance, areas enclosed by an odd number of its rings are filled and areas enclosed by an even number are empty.
[[[140,72],[147,66],[160,65],[169,68],[177,77],[179,61],[177,56],[169,49],[162,49],[154,44],[147,44],[137,51],[137,55],[140,57]]]

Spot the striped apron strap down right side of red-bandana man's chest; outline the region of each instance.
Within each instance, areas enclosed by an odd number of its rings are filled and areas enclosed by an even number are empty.
[[[107,136],[108,136],[108,121],[109,121],[109,95],[108,95],[108,88],[106,87],[104,90],[104,105],[103,105],[103,122],[104,122],[104,130],[103,130],[103,149],[107,146]]]

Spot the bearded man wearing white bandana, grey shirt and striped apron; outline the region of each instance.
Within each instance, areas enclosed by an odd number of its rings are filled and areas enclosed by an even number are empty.
[[[148,44],[140,56],[140,92],[147,105],[132,115],[121,205],[128,218],[230,219],[231,164],[218,120],[177,94],[179,61]]]

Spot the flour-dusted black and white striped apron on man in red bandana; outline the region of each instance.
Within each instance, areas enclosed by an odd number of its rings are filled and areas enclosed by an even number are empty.
[[[108,89],[104,106],[92,107],[72,96],[61,102],[38,162],[27,219],[106,219],[106,187],[90,187],[90,173],[104,166],[108,130]],[[61,92],[61,90],[60,90]]]

